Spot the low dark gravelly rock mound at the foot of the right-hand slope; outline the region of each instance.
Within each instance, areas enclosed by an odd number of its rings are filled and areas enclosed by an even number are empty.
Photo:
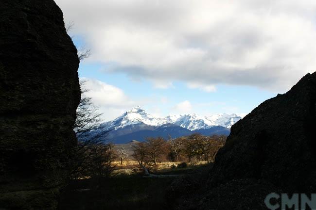
[[[271,192],[278,189],[263,180],[234,179],[182,198],[176,210],[268,210],[263,201]]]

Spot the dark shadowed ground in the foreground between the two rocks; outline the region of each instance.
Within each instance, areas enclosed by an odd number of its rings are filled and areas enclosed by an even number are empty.
[[[194,174],[210,165],[200,165],[157,174]],[[168,187],[176,178],[143,178],[141,175],[115,176],[96,180],[73,180],[61,196],[59,210],[169,210]]]

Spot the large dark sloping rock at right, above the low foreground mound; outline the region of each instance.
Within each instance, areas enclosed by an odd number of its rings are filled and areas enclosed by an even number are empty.
[[[316,72],[231,128],[211,183],[236,178],[264,179],[284,191],[316,191]]]

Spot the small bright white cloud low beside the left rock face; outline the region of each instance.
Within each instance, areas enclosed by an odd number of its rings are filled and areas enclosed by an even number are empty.
[[[100,113],[104,113],[102,119],[105,121],[112,120],[127,109],[136,106],[136,103],[118,87],[89,78],[80,78],[80,80],[85,81],[83,89],[88,90],[84,96],[91,97],[92,103],[99,107]]]

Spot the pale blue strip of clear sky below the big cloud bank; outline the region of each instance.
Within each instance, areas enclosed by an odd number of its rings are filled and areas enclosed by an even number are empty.
[[[86,44],[82,38],[73,37],[77,48]],[[170,88],[157,88],[155,85],[140,79],[129,78],[124,73],[107,72],[107,65],[98,62],[82,61],[79,67],[79,77],[105,82],[123,90],[124,94],[135,101],[128,109],[140,105],[148,113],[157,116],[167,116],[179,113],[197,113],[208,115],[215,113],[237,113],[245,115],[257,107],[264,100],[276,96],[276,93],[246,85],[217,85],[216,91],[206,92],[200,89],[188,88],[184,82],[175,81]],[[182,111],[176,108],[177,104],[189,101],[191,109]],[[97,104],[102,107],[102,104]],[[106,114],[106,108],[101,109]],[[122,113],[123,109],[115,114],[104,114],[105,120],[110,120],[116,114]]]

